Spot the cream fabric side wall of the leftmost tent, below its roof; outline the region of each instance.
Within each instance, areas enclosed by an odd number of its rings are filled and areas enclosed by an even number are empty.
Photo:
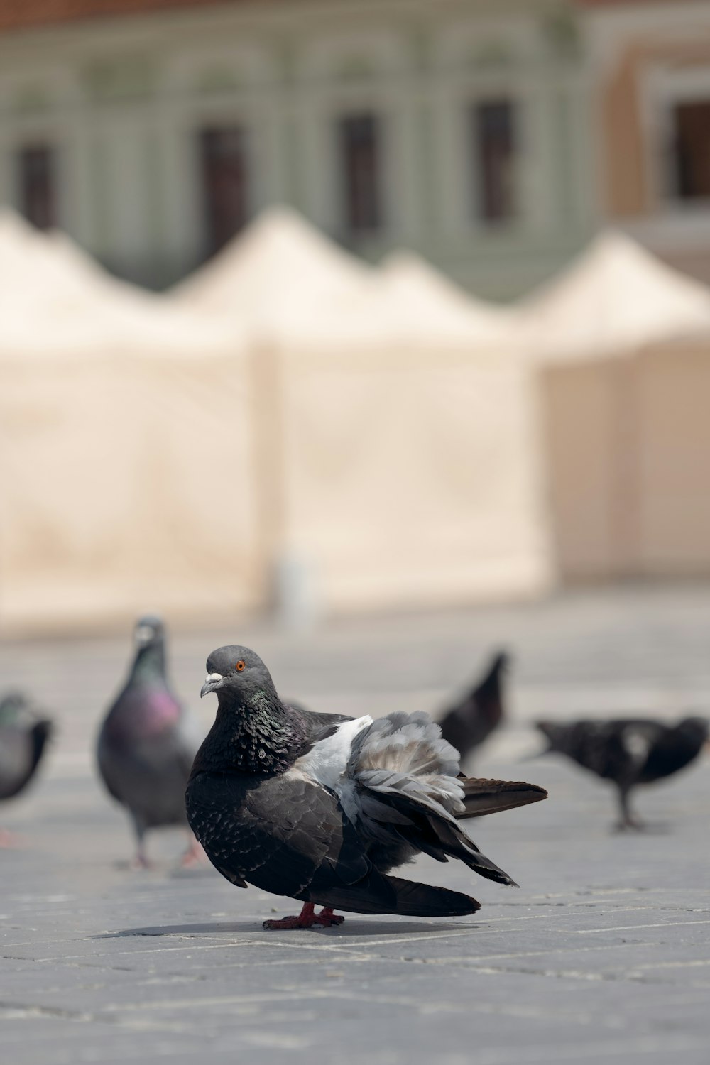
[[[5,632],[261,602],[243,359],[23,357],[0,377]]]

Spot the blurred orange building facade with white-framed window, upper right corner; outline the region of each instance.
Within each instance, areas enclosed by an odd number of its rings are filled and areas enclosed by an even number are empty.
[[[602,217],[710,281],[710,3],[587,0]]]

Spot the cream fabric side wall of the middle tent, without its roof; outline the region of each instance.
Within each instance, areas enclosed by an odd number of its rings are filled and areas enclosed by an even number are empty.
[[[511,353],[288,353],[284,550],[331,610],[547,587],[529,372]]]

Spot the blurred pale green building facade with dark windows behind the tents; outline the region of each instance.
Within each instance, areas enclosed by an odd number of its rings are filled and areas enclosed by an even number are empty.
[[[100,16],[100,17],[99,17]],[[517,295],[598,220],[587,11],[560,0],[23,0],[0,200],[161,286],[284,202]]]

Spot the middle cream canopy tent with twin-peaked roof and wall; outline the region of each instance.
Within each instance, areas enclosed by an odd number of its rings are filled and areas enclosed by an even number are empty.
[[[252,332],[260,539],[287,594],[345,611],[546,586],[530,370],[501,312],[284,209],[174,296]]]

